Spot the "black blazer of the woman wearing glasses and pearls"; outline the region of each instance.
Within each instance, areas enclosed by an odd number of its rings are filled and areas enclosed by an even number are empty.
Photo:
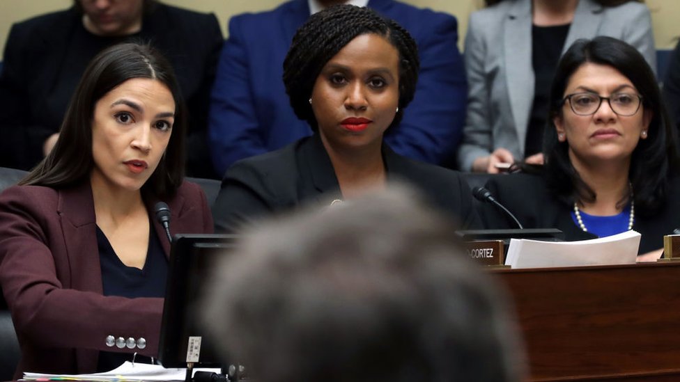
[[[592,233],[583,232],[573,222],[573,206],[555,199],[540,175],[500,175],[492,177],[486,188],[517,217],[524,228],[557,228],[564,232],[567,241],[596,238]],[[635,207],[633,230],[642,234],[638,254],[663,248],[663,235],[671,234],[674,228],[680,227],[680,200],[674,197],[678,191],[680,181],[674,178],[665,207],[654,216]],[[485,228],[517,228],[493,205],[481,206],[480,216]]]

